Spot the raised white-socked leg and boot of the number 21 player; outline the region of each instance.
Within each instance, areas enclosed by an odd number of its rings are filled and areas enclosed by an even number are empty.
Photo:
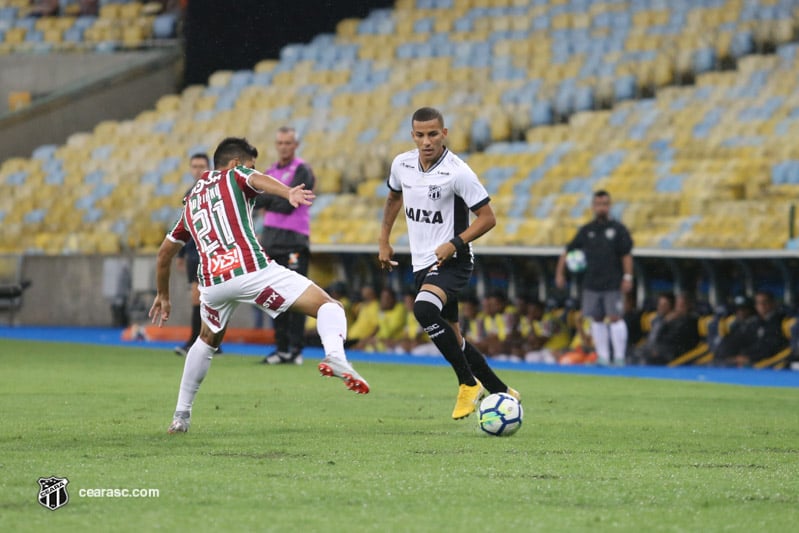
[[[319,363],[319,372],[323,376],[340,378],[351,391],[367,394],[369,384],[347,361],[344,351],[347,317],[341,304],[318,285],[311,284],[297,298],[291,310],[316,318],[316,330],[325,350],[325,358]]]

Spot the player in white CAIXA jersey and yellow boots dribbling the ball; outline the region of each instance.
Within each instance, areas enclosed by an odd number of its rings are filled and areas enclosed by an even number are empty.
[[[411,119],[411,136],[416,150],[398,155],[391,164],[378,260],[384,269],[397,266],[391,259],[394,249],[389,239],[404,203],[418,291],[413,313],[458,378],[452,412],[452,418],[458,420],[475,410],[486,389],[520,399],[458,327],[458,294],[474,270],[470,243],[493,228],[496,218],[485,187],[444,145],[447,128],[438,110],[418,109]],[[476,215],[471,225],[470,210]]]

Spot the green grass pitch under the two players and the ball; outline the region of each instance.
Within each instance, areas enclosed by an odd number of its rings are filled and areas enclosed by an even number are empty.
[[[190,433],[168,435],[183,360],[3,340],[0,530],[788,531],[795,389],[502,372],[524,426],[453,421],[444,367],[357,364],[372,393],[219,356]],[[70,481],[49,511],[39,477]],[[157,488],[158,498],[79,497]]]

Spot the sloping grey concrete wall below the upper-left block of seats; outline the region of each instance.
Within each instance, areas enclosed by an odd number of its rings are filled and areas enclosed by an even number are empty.
[[[0,161],[29,157],[37,146],[63,144],[71,134],[91,131],[103,120],[129,119],[154,108],[158,98],[176,92],[182,61],[177,49],[123,54],[119,58],[98,54],[70,59],[61,54],[45,59],[25,57],[31,64],[11,63],[11,75],[27,79],[30,87],[48,88],[55,84],[56,88],[34,105],[0,118]],[[6,59],[20,60],[13,55]],[[64,61],[63,66],[57,66],[59,59]],[[9,76],[5,68],[0,62],[3,80]],[[52,74],[38,72],[46,69],[51,69]],[[78,82],[73,83],[76,76]],[[24,89],[25,85],[13,87]]]

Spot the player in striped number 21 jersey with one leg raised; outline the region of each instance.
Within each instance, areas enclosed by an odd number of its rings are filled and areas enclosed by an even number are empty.
[[[289,188],[253,170],[258,150],[246,139],[229,137],[214,153],[216,170],[203,174],[186,195],[182,216],[158,250],[153,323],[169,320],[169,271],[172,258],[193,238],[200,253],[200,336],[186,354],[180,392],[169,433],[185,433],[191,407],[225,328],[240,303],[255,305],[272,317],[289,310],[316,317],[325,350],[319,363],[323,376],[341,378],[348,389],[369,392],[369,384],[347,361],[344,308],[311,280],[272,261],[258,243],[252,223],[255,197],[268,193],[286,198],[294,207],[310,205],[313,192],[303,185]]]

